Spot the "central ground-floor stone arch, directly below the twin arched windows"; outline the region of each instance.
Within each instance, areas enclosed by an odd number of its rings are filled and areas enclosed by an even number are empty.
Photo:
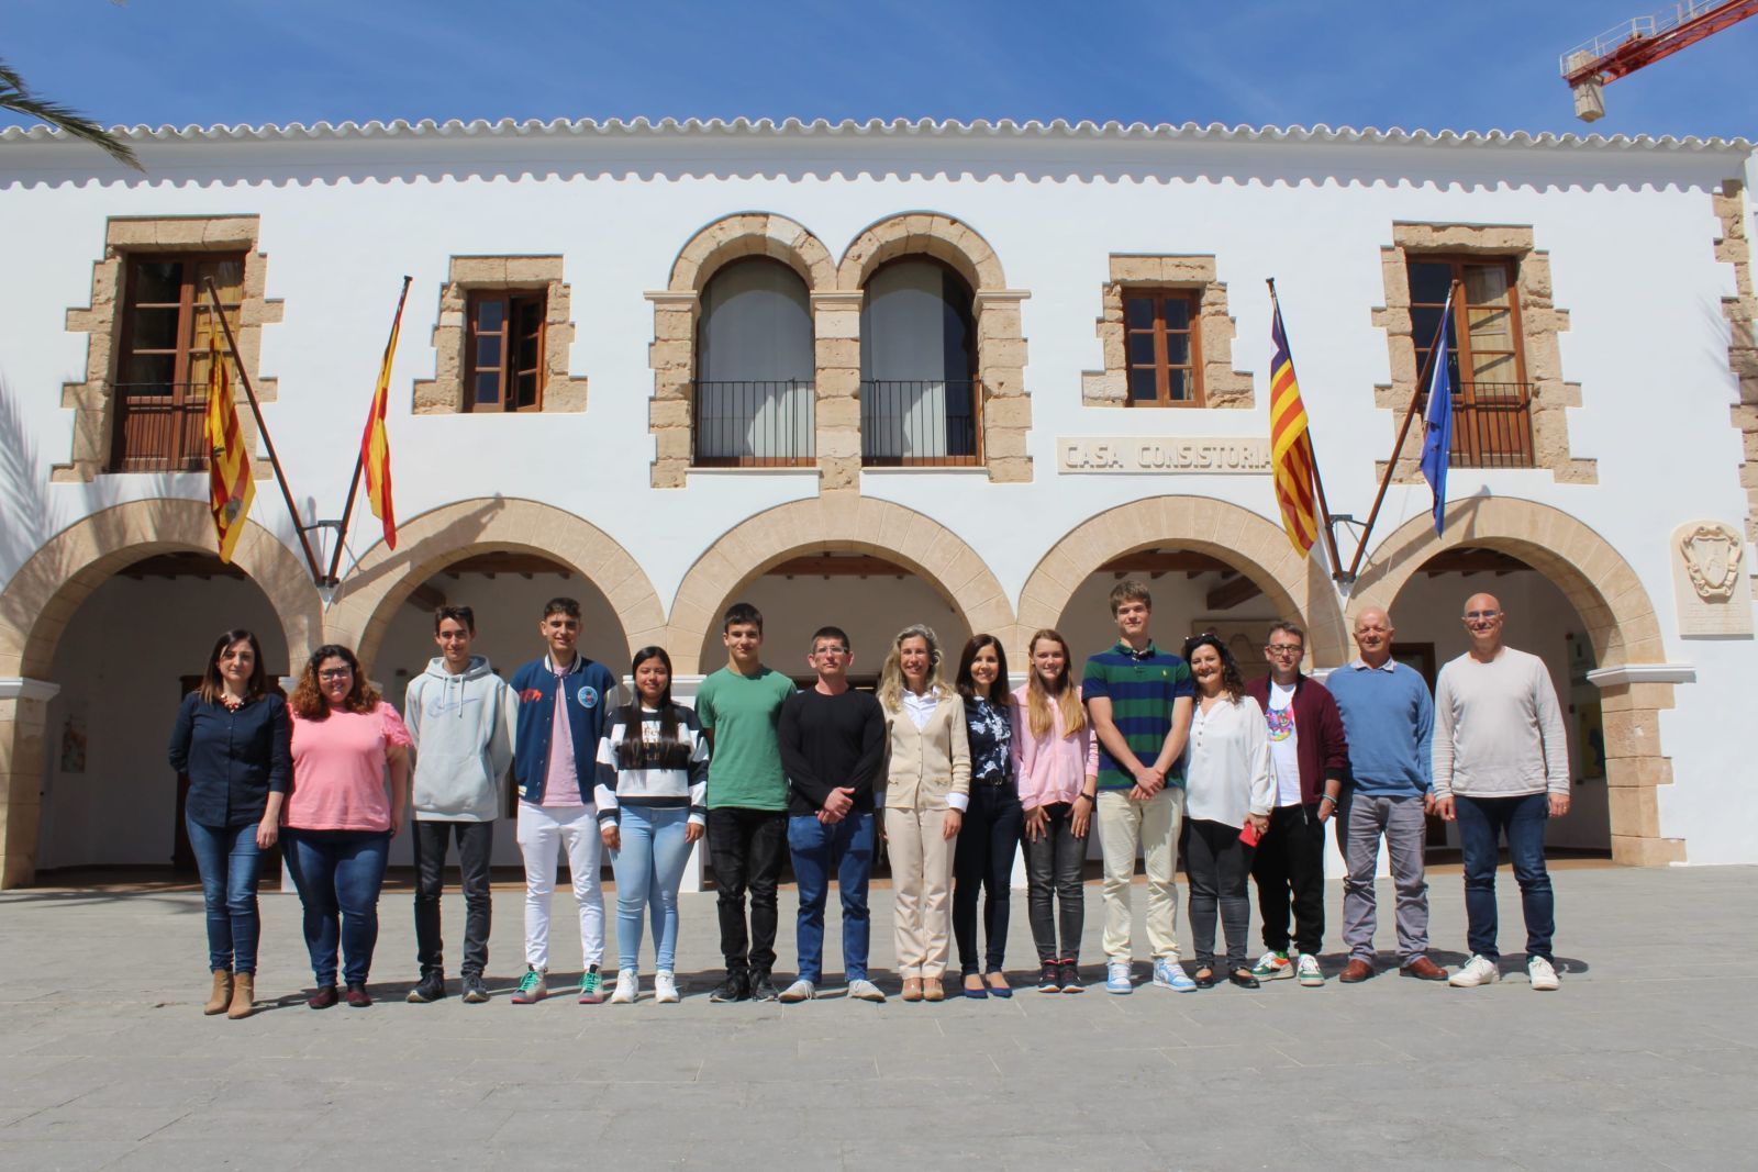
[[[875,553],[939,589],[972,631],[993,631],[1006,638],[1014,629],[1006,590],[956,532],[890,501],[821,496],[779,504],[738,522],[689,568],[666,627],[666,647],[679,675],[701,669],[701,641],[738,590],[807,548]]]

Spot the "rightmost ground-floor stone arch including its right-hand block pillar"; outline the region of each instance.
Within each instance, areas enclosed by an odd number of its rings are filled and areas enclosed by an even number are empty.
[[[1366,606],[1391,610],[1424,562],[1459,545],[1510,553],[1549,578],[1580,615],[1602,669],[1665,662],[1654,604],[1630,562],[1580,520],[1517,497],[1450,504],[1442,536],[1427,513],[1394,529],[1357,578],[1350,617]],[[1616,671],[1600,682],[1614,863],[1684,861],[1684,840],[1660,833],[1656,792],[1672,784],[1672,761],[1660,747],[1660,712],[1674,706],[1672,689]]]

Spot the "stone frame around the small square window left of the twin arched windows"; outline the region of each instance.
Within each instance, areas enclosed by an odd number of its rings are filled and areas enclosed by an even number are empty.
[[[585,376],[568,369],[575,325],[571,288],[563,281],[561,255],[454,255],[440,286],[440,316],[434,322],[434,376],[415,380],[415,415],[469,415],[464,387],[469,343],[469,295],[475,292],[543,290],[543,388],[541,413],[585,411]],[[483,415],[501,415],[485,411]]]

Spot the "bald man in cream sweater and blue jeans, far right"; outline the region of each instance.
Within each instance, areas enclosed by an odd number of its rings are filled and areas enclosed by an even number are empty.
[[[1442,668],[1435,685],[1435,812],[1459,824],[1471,949],[1450,984],[1500,977],[1496,852],[1505,833],[1526,914],[1526,973],[1531,988],[1549,991],[1558,988],[1556,905],[1544,824],[1568,814],[1568,749],[1551,673],[1536,655],[1501,643],[1503,619],[1493,594],[1466,599],[1471,650]]]

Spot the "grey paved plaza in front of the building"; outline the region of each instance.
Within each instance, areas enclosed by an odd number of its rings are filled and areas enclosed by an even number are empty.
[[[1457,872],[1433,886],[1435,956],[1457,965]],[[373,972],[380,1003],[325,1012],[302,1003],[297,898],[265,894],[258,996],[280,1000],[241,1023],[200,1014],[199,894],[7,893],[0,1167],[1749,1167],[1758,986],[1728,958],[1758,935],[1758,868],[1572,868],[1556,886],[1563,989],[1551,995],[1526,986],[1503,872],[1512,975],[1486,989],[1394,968],[1324,989],[796,1007],[708,1003],[712,894],[684,896],[680,1005],[512,1005],[522,933],[512,889],[494,896],[494,1002],[406,1005],[413,924],[408,893],[392,891]],[[1097,884],[1086,893],[1097,979]],[[874,894],[883,970],[890,893]],[[1137,886],[1137,917],[1143,896]],[[1327,900],[1334,947],[1336,884]],[[1391,907],[1389,891],[1380,900]],[[568,970],[571,898],[556,910],[556,963]],[[789,889],[782,970],[793,910]],[[461,915],[448,896],[452,956]],[[1188,937],[1181,910],[1180,930]],[[1391,945],[1389,924],[1380,942]],[[835,931],[828,945],[835,970]],[[1009,961],[1021,984],[1030,958],[1014,893]],[[1327,956],[1327,970],[1341,959]],[[1396,961],[1382,952],[1382,963]]]

